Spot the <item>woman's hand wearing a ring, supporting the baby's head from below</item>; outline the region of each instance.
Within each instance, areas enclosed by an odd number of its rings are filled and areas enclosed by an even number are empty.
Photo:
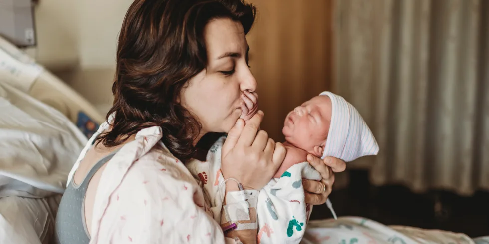
[[[302,179],[305,202],[312,205],[324,204],[333,187],[334,172],[343,172],[346,169],[346,163],[334,157],[326,157],[321,160],[310,154],[307,155],[307,161],[321,174],[322,179],[320,181]]]

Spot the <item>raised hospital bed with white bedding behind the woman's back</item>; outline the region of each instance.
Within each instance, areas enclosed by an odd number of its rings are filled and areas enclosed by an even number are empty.
[[[51,244],[69,170],[104,121],[0,37],[0,244]]]

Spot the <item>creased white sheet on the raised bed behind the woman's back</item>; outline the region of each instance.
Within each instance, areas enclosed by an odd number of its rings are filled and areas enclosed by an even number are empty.
[[[86,141],[60,112],[0,78],[0,197],[63,193]]]

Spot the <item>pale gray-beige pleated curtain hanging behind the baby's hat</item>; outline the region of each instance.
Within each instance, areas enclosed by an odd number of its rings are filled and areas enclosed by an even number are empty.
[[[489,1],[334,0],[333,91],[362,114],[375,185],[489,190]]]

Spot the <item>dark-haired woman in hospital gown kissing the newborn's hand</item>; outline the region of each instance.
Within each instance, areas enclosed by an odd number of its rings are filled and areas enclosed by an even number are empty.
[[[259,190],[280,166],[285,149],[258,129],[262,112],[248,113],[257,107],[245,38],[254,17],[241,0],[134,1],[118,42],[114,105],[59,207],[60,243],[225,243],[211,201],[181,162],[205,154],[213,133],[229,132],[224,178]],[[310,163],[323,179],[304,180],[306,202],[323,204],[332,171],[345,163]],[[227,235],[256,243],[257,231]]]

